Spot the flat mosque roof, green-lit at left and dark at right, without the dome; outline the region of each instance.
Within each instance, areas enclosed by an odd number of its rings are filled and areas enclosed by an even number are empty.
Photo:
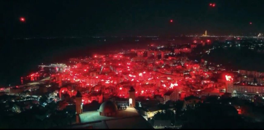
[[[101,116],[99,111],[80,114],[80,125],[73,128],[153,128],[136,109],[119,110],[115,116]]]

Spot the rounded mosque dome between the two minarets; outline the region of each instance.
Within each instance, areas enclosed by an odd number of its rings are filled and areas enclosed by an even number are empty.
[[[99,108],[101,116],[113,116],[117,113],[117,105],[111,101],[103,102]]]

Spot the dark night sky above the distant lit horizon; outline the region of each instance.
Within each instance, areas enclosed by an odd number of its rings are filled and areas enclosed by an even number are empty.
[[[7,37],[264,31],[264,0],[5,0],[3,5]]]

